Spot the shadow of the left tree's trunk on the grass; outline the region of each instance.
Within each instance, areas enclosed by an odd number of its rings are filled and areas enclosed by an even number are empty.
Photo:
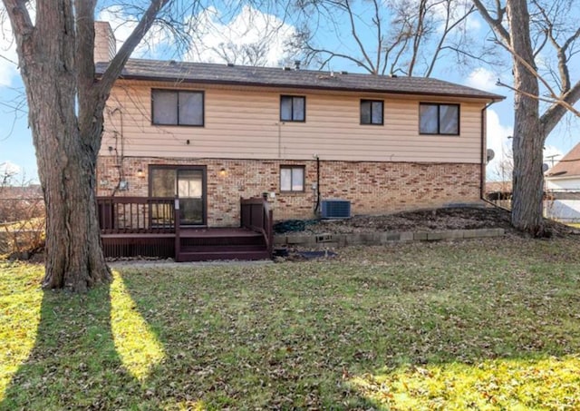
[[[86,295],[44,291],[34,348],[6,388],[2,409],[115,409],[140,393],[111,334],[109,287]]]

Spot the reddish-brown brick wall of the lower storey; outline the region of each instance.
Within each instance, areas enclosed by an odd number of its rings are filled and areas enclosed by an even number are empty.
[[[304,192],[280,192],[280,165],[304,165]],[[192,160],[114,156],[99,158],[97,194],[111,195],[120,179],[129,182],[117,196],[147,196],[150,165],[207,168],[208,226],[239,224],[239,198],[274,192],[275,220],[312,218],[316,161]],[[221,170],[225,172],[220,172]],[[139,175],[139,170],[143,171]],[[122,176],[122,177],[120,177]],[[468,163],[320,161],[322,199],[352,201],[353,214],[380,214],[479,200],[480,167]]]

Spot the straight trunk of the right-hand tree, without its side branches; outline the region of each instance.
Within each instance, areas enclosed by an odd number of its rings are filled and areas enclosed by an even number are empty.
[[[514,51],[515,129],[513,139],[514,175],[512,225],[535,237],[545,235],[543,225],[545,133],[539,118],[538,81],[526,64],[534,67],[529,37],[529,14],[526,0],[508,0],[507,17]]]

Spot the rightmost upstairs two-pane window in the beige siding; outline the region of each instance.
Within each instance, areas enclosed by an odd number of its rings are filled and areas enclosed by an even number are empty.
[[[420,103],[419,132],[459,135],[459,104]]]

